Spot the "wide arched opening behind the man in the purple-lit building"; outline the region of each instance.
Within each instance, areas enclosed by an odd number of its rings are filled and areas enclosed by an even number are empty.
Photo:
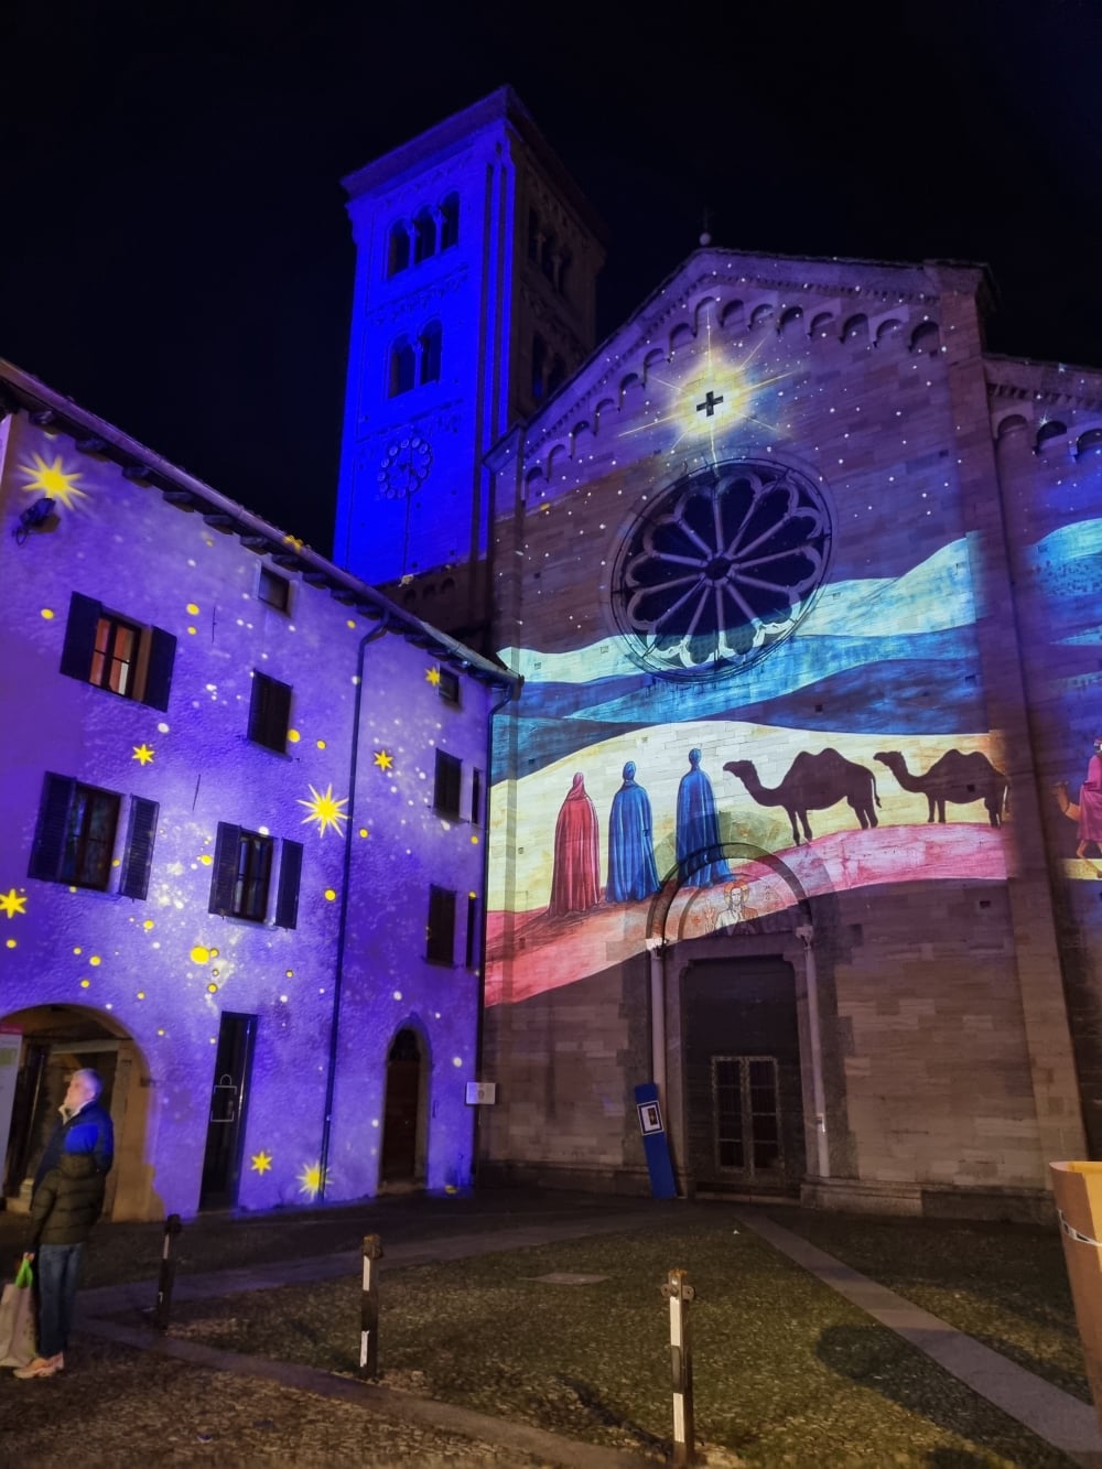
[[[143,1078],[147,1068],[134,1039],[110,1017],[79,1005],[15,1011],[0,1019],[0,1028],[9,1040],[18,1037],[3,1165],[6,1208],[26,1210],[31,1180],[57,1122],[69,1077],[90,1068],[103,1081],[101,1105],[115,1124],[115,1166],[107,1175],[104,1215],[115,1219],[156,1216],[150,1169],[144,1165],[147,1091]],[[15,1044],[9,1053],[15,1059]],[[148,1212],[151,1206],[153,1213]]]

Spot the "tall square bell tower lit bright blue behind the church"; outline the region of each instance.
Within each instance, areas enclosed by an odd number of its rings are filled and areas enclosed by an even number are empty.
[[[508,87],[344,184],[357,266],[334,560],[478,645],[483,455],[592,351],[601,226]]]

